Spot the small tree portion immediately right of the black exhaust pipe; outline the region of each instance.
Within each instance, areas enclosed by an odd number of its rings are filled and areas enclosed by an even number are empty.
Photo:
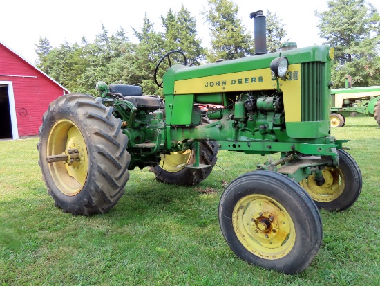
[[[267,10],[267,52],[280,51],[281,40],[285,38],[286,34],[281,19],[278,19],[276,13],[272,14]]]

